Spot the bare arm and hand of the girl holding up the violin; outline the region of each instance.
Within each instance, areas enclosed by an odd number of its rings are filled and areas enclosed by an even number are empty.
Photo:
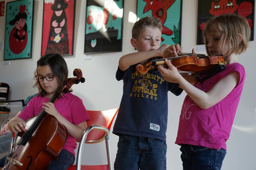
[[[233,72],[221,79],[212,87],[208,92],[201,91],[189,83],[182,75],[178,72],[177,68],[170,63],[170,61],[165,61],[168,68],[163,68],[163,66],[158,66],[159,72],[162,74],[166,81],[179,83],[180,87],[184,89],[189,97],[199,106],[201,109],[208,109],[214,106],[223,98],[225,98],[229,92],[236,87],[239,81],[239,74]]]

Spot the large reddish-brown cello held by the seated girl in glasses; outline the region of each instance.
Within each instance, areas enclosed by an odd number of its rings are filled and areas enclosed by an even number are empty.
[[[72,85],[84,83],[80,69],[76,68],[73,75],[77,78],[69,78],[60,94],[54,94],[48,102],[56,102],[61,94],[71,91]],[[65,145],[67,129],[44,109],[39,115],[27,120],[26,124],[30,127],[18,134],[21,137],[12,148],[14,151],[7,157],[8,163],[3,169],[47,169]]]

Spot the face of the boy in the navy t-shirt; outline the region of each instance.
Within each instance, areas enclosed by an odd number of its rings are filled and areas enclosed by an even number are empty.
[[[132,38],[131,44],[138,51],[156,50],[161,44],[161,31],[157,27],[145,27],[138,38]]]

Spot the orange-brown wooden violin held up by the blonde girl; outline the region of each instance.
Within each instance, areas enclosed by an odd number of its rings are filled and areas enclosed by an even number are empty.
[[[202,74],[213,70],[217,67],[223,69],[227,64],[223,55],[207,56],[204,54],[183,53],[178,57],[167,58],[172,64],[181,71],[194,72],[195,74]],[[146,74],[149,70],[156,68],[159,64],[165,64],[165,59],[153,59],[146,64],[138,64],[136,70],[140,74]]]

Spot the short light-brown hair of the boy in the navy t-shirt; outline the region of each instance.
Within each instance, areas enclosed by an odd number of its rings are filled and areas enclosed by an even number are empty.
[[[162,23],[158,18],[146,16],[135,22],[132,30],[132,38],[138,38],[138,35],[144,31],[145,27],[157,27],[162,32]]]

